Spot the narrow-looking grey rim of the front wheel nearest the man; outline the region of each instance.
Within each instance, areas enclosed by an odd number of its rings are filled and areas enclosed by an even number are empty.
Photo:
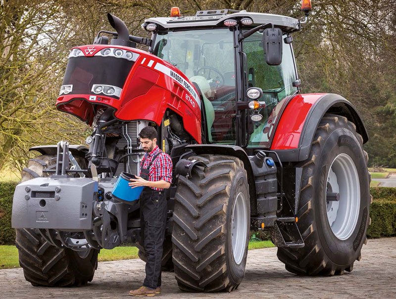
[[[237,195],[232,213],[232,254],[235,262],[242,262],[246,247],[247,215],[245,195]]]

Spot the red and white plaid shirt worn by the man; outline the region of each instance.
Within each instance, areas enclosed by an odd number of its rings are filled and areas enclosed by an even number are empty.
[[[158,146],[156,146],[151,152],[146,153],[142,159],[142,168],[147,168],[151,162],[153,156],[156,153],[160,152],[158,157],[151,164],[151,168],[148,174],[148,180],[150,182],[156,182],[161,179],[167,181],[168,183],[172,182],[172,160],[170,156],[164,152],[162,152]],[[162,188],[152,188],[157,191],[163,190]]]

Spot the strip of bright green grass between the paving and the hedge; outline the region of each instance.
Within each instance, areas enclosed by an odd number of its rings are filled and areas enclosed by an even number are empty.
[[[252,241],[249,242],[250,249],[260,249],[274,247],[271,241]],[[100,250],[98,260],[110,261],[120,259],[138,258],[138,249],[133,246],[120,246],[111,250]],[[18,268],[18,250],[13,245],[0,246],[0,269]]]

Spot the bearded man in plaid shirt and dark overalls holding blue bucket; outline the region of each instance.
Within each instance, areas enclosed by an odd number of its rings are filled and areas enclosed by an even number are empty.
[[[131,296],[155,296],[161,292],[161,259],[166,228],[167,202],[164,189],[172,181],[172,160],[157,146],[157,131],[143,128],[140,143],[146,152],[140,176],[131,178],[129,186],[144,186],[140,196],[141,226],[146,252],[146,278],[143,286],[129,292]]]

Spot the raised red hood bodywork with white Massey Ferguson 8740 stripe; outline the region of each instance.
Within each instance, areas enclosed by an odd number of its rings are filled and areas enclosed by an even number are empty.
[[[166,109],[170,109],[182,117],[185,130],[201,143],[201,102],[198,91],[176,67],[136,48],[103,44],[76,48],[85,57],[103,56],[100,55],[100,50],[119,48],[134,53],[135,62],[125,84],[118,86],[122,88],[119,98],[95,94],[93,91],[88,94],[62,94],[56,100],[58,110],[72,114],[91,125],[95,107],[110,106],[115,109],[114,117],[119,120],[147,120],[160,125]],[[89,84],[92,87],[96,83]]]

